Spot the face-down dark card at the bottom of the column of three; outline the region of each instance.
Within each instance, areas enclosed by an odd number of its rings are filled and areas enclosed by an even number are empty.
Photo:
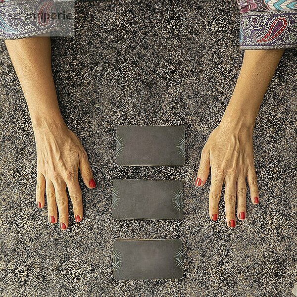
[[[182,267],[180,239],[113,241],[113,276],[117,280],[179,279]]]

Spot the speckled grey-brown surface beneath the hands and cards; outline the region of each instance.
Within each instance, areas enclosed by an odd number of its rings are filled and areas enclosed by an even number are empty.
[[[149,3],[148,3],[149,2]],[[290,297],[297,282],[297,50],[284,54],[254,131],[260,205],[234,230],[208,219],[210,183],[195,189],[200,151],[239,73],[239,15],[226,1],[76,3],[76,38],[52,40],[62,114],[98,187],[67,231],[35,207],[35,144],[20,85],[0,43],[0,296]],[[93,16],[92,16],[93,14]],[[119,124],[185,125],[186,166],[115,165]],[[120,222],[113,178],[184,181],[183,222]],[[220,203],[220,213],[224,212]],[[72,211],[70,210],[70,215]],[[182,280],[116,281],[112,240],[181,238]]]

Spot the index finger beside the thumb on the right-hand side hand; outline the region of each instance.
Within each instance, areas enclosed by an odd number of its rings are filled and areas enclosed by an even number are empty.
[[[219,200],[221,198],[223,176],[217,172],[211,172],[211,183],[209,190],[209,216],[216,221],[219,215]]]

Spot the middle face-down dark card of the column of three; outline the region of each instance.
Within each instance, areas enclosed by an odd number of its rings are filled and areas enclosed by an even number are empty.
[[[114,179],[112,216],[118,220],[183,220],[181,180]]]

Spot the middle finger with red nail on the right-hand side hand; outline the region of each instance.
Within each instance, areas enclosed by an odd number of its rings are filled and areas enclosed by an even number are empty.
[[[236,182],[235,179],[225,178],[225,213],[227,225],[235,227],[235,201],[236,201]]]

